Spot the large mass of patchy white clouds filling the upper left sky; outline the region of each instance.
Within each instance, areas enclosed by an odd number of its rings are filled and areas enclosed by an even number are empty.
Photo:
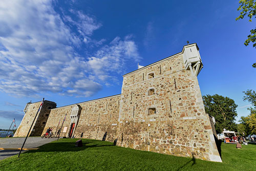
[[[106,39],[92,38],[101,27],[95,17],[70,11],[75,17],[55,12],[52,1],[1,1],[1,91],[91,96],[116,81],[113,74],[123,72],[126,61],[140,60],[131,36],[103,45]],[[79,54],[88,43],[101,48],[93,56]]]

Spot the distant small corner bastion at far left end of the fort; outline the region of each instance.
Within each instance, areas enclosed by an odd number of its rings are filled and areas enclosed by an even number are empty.
[[[35,118],[35,115],[39,109],[41,101],[30,103],[22,122],[20,123],[14,137],[26,137],[30,126]],[[44,130],[47,123],[50,110],[56,107],[56,103],[52,101],[45,100],[40,112],[37,114],[35,122],[33,123],[32,130],[29,136],[40,136],[42,130]]]

